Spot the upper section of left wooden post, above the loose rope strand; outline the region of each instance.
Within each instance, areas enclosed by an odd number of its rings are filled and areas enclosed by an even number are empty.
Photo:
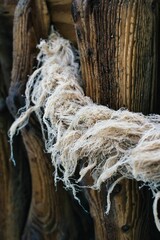
[[[36,65],[37,44],[49,32],[46,2],[19,0],[13,24],[12,81],[7,104],[13,116],[24,105],[24,91],[28,76]],[[16,102],[16,104],[14,104]]]

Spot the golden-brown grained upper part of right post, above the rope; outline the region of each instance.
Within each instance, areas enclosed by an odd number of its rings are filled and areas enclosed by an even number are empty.
[[[160,2],[74,3],[86,94],[114,109],[158,112]]]

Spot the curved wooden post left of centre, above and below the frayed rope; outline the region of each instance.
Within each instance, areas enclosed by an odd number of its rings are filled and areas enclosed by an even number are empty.
[[[14,117],[17,110],[24,104],[23,95],[28,75],[33,72],[33,67],[36,65],[36,45],[41,38],[47,38],[48,33],[49,15],[45,0],[20,0],[14,15],[12,81],[7,98],[8,109]],[[78,203],[73,203],[72,197],[61,183],[58,184],[56,191],[53,181],[54,169],[50,156],[44,151],[40,126],[34,116],[31,117],[28,126],[23,129],[22,139],[29,165],[29,169],[25,169],[25,174],[31,177],[30,205],[28,209],[25,208],[24,211],[19,212],[20,217],[25,214],[19,235],[15,238],[7,236],[5,239],[79,239],[81,235],[84,240],[88,240],[92,235],[92,230],[89,231],[91,227],[88,227],[91,223],[90,218]],[[14,152],[18,148],[19,145],[16,145]],[[19,157],[23,161],[23,155]],[[15,161],[17,162],[17,154]],[[22,174],[22,171],[20,173]],[[7,180],[8,176],[5,177]],[[28,185],[25,179],[24,184]],[[13,185],[16,189],[15,182]],[[20,193],[21,191],[22,189]],[[16,198],[16,195],[13,194],[13,196]],[[21,210],[20,206],[23,204],[18,202],[17,209]],[[15,217],[14,212],[12,216]],[[10,227],[10,234],[14,233],[13,226],[12,224]],[[17,222],[15,226],[19,228]]]

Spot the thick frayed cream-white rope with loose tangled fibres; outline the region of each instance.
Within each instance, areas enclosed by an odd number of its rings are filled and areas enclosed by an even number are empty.
[[[79,65],[69,41],[53,32],[41,41],[39,68],[26,86],[26,105],[9,130],[13,136],[27,123],[32,112],[40,122],[45,148],[55,167],[55,182],[61,179],[76,197],[77,182],[89,172],[94,189],[117,176],[108,191],[122,178],[142,181],[155,197],[153,213],[160,230],[157,203],[160,198],[160,116],[144,116],[127,110],[114,111],[96,105],[80,86]],[[13,158],[13,155],[11,155]],[[14,161],[14,159],[12,159]],[[79,179],[74,173],[83,165]],[[62,177],[60,177],[59,172]]]

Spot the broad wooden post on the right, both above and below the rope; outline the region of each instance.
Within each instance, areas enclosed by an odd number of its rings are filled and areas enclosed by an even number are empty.
[[[84,88],[95,102],[144,114],[158,111],[159,9],[159,0],[73,1]],[[92,180],[87,176],[85,181],[88,185]],[[123,180],[106,216],[110,183],[100,193],[86,191],[96,240],[153,239],[149,190]]]

